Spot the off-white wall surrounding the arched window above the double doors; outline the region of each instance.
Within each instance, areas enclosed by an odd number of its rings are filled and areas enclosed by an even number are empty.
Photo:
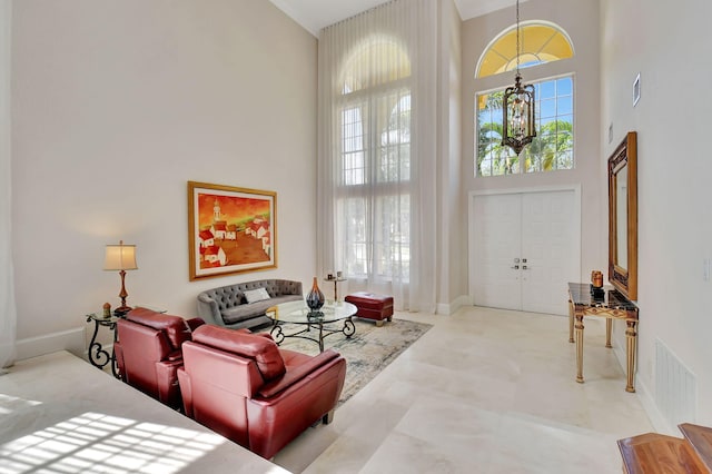
[[[465,192],[494,189],[524,189],[551,186],[581,186],[582,190],[582,260],[581,278],[587,282],[592,269],[605,269],[607,241],[601,229],[607,226],[603,214],[606,195],[602,194],[599,144],[599,2],[597,0],[530,0],[520,6],[521,21],[544,20],[558,24],[571,37],[575,56],[522,70],[524,82],[565,73],[574,73],[576,118],[574,122],[575,169],[475,177],[475,95],[514,83],[514,72],[475,79],[477,61],[490,41],[516,22],[514,7],[474,18],[463,23],[463,180]],[[464,216],[464,214],[463,214]],[[562,298],[566,289],[562,288]]]

